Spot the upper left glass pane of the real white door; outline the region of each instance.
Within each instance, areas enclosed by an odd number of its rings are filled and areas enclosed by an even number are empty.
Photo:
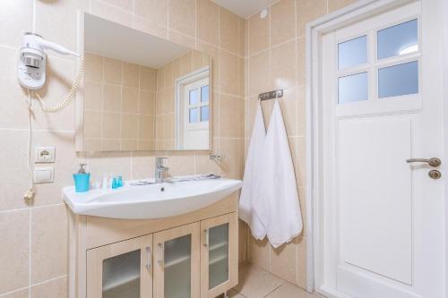
[[[339,69],[367,63],[367,36],[354,38],[338,45]]]

